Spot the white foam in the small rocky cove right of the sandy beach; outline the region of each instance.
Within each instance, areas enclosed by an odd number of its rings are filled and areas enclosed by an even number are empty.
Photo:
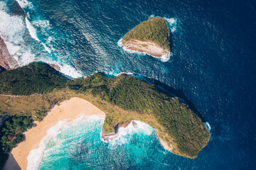
[[[139,120],[132,120],[129,125],[125,128],[119,128],[115,135],[107,137],[108,140],[103,140],[103,142],[110,143],[111,147],[116,147],[115,145],[122,145],[129,142],[127,135],[133,135],[135,133],[143,133],[144,135],[151,135],[154,129],[146,123],[142,123]]]

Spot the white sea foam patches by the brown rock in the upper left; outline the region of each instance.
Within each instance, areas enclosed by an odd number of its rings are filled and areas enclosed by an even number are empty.
[[[28,1],[18,1],[21,8],[26,8],[26,6],[32,6]],[[4,2],[1,1],[1,6],[6,6]],[[31,49],[33,45],[28,45],[31,43],[27,39],[23,39],[26,35],[26,31],[31,35],[31,38],[36,40],[36,42],[41,43],[48,53],[53,50],[50,42],[53,41],[53,37],[49,36],[46,42],[41,42],[37,35],[37,29],[49,30],[49,21],[30,21],[29,13],[26,13],[25,20],[23,16],[11,16],[6,11],[0,10],[0,36],[4,40],[7,49],[9,50],[11,56],[17,60],[19,66],[29,64],[30,62],[46,62],[49,64],[57,64],[60,67],[60,72],[69,77],[78,78],[82,77],[82,73],[77,71],[74,67],[63,60],[53,61],[50,57],[46,55],[36,55]],[[33,26],[33,24],[36,28]],[[40,28],[38,28],[40,27]],[[29,39],[29,38],[28,38]]]

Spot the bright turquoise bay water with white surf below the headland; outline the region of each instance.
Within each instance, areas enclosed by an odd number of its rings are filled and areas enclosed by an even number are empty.
[[[103,119],[58,123],[48,135],[38,169],[146,169],[170,167],[169,153],[159,144],[154,129],[137,121],[119,130],[111,142],[102,142]],[[49,132],[48,132],[49,133]],[[35,152],[33,154],[39,154]],[[31,155],[30,155],[31,156]],[[153,163],[153,164],[152,164]],[[35,166],[29,166],[33,169]],[[144,167],[145,164],[148,164]]]

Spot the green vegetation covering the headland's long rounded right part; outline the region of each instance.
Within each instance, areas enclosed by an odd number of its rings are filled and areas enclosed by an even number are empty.
[[[178,152],[182,155],[195,157],[208,143],[209,133],[206,127],[186,104],[145,81],[129,76],[110,79],[95,73],[87,79],[69,81],[68,86],[80,86],[78,91],[90,92],[125,111],[153,115],[163,127],[159,130],[160,137],[168,134],[165,140],[176,144]],[[105,127],[110,127],[105,128],[107,132],[112,131],[113,125],[117,123],[112,120],[113,118],[107,115]],[[156,128],[155,125],[151,126]]]

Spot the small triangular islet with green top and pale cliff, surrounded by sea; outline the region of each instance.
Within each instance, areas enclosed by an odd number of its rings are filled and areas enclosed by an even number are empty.
[[[127,50],[146,52],[153,57],[169,57],[169,29],[166,20],[151,17],[143,21],[124,35],[122,46]]]

